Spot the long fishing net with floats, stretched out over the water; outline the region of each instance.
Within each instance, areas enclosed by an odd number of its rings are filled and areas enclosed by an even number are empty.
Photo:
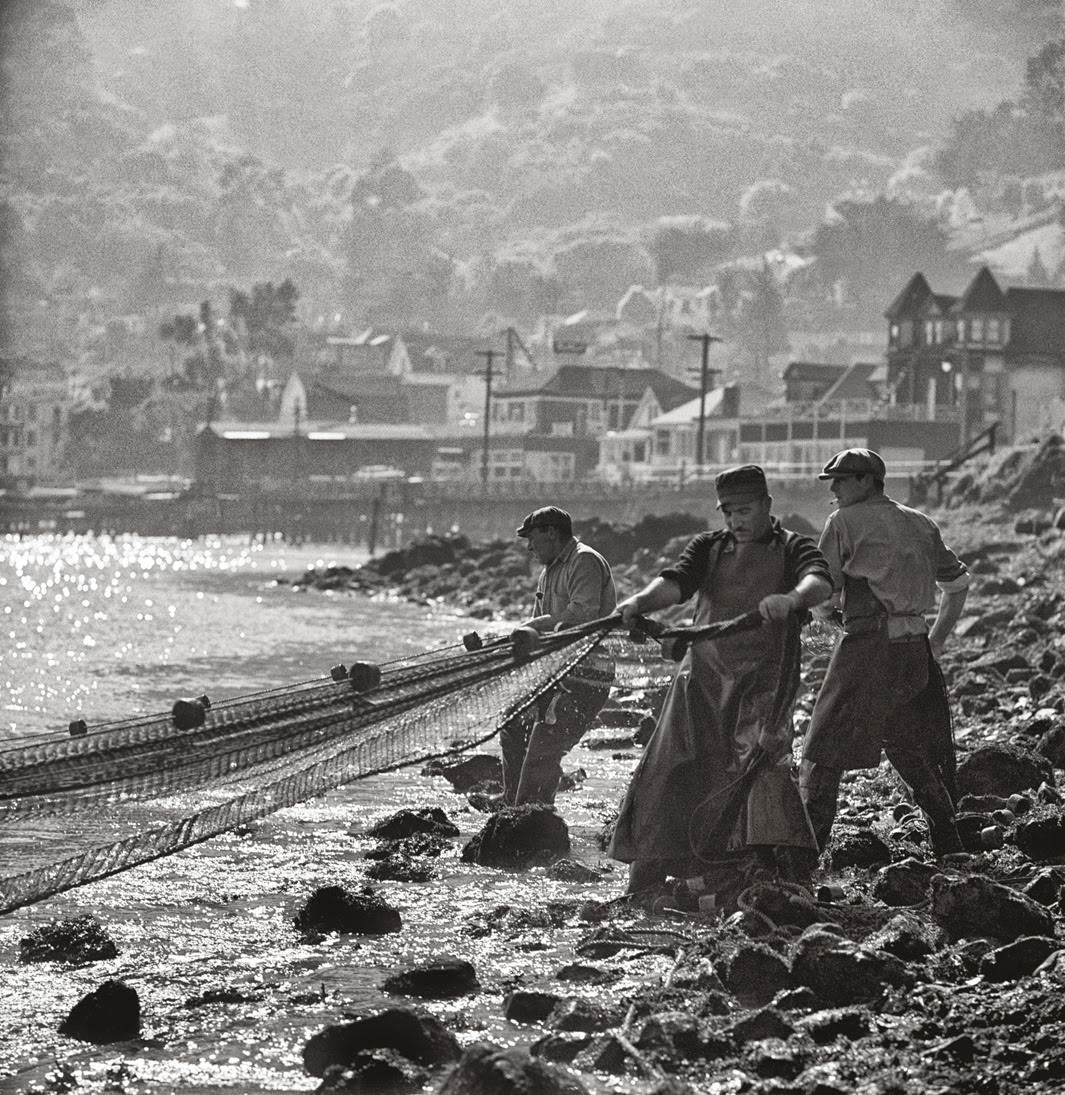
[[[0,749],[0,912],[169,855],[345,783],[490,738],[607,639],[616,620],[355,668],[81,737]]]

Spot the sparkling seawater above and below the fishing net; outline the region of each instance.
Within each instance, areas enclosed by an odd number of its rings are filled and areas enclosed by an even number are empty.
[[[321,545],[243,539],[0,540],[0,739],[62,730],[72,718],[92,725],[167,711],[182,695],[221,700],[319,679],[340,661],[387,662],[475,630],[443,608],[291,584],[308,567],[357,561]],[[632,762],[578,747],[569,766],[578,764],[589,779],[559,804],[574,856],[609,871],[598,835]],[[421,806],[444,808],[461,838],[436,861],[432,880],[370,884],[400,909],[403,930],[314,943],[297,935],[292,917],[315,887],[368,885],[375,842],[366,830]],[[90,1093],[313,1091],[320,1081],[302,1067],[308,1038],[350,1014],[412,1003],[390,999],[383,979],[441,954],[473,961],[482,992],[418,1006],[463,1042],[522,1040],[501,1017],[503,995],[571,957],[580,926],[543,920],[543,909],[587,897],[588,887],[462,864],[461,846],[484,820],[445,781],[401,769],[0,918],[0,1091],[40,1090],[65,1074]],[[594,896],[623,889],[618,869]],[[530,915],[485,930],[501,906]],[[30,931],[84,913],[107,929],[117,958],[19,963]],[[137,990],[142,1038],[86,1046],[60,1037],[73,1004],[109,979]],[[212,994],[216,1002],[200,1002]]]

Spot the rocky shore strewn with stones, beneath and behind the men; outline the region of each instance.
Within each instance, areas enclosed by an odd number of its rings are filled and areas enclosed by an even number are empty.
[[[506,1074],[520,1076],[506,1090],[579,1091],[586,1073],[663,1093],[1063,1090],[1063,495],[1065,448],[1051,437],[925,504],[974,574],[944,664],[965,854],[933,858],[887,766],[853,773],[812,891],[764,879],[707,912],[679,890],[657,915],[590,902],[578,915],[600,926],[583,960],[563,983],[508,1001],[542,1030],[531,1056],[467,1051],[440,1090],[502,1091]],[[615,572],[627,591],[702,527],[681,515],[577,531],[628,561]],[[513,618],[528,574],[517,545],[455,538],[326,580]],[[800,730],[827,660],[823,643],[808,645]],[[668,976],[612,991],[648,950],[672,958]],[[594,1003],[575,1000],[567,978],[594,982]],[[559,1063],[578,1077],[551,1072]]]

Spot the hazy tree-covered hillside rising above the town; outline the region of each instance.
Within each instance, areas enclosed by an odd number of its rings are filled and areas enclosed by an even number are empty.
[[[14,344],[32,301],[285,277],[352,321],[602,304],[662,281],[663,218],[729,260],[929,201],[952,119],[1065,34],[1060,0],[15,0],[2,31]]]

